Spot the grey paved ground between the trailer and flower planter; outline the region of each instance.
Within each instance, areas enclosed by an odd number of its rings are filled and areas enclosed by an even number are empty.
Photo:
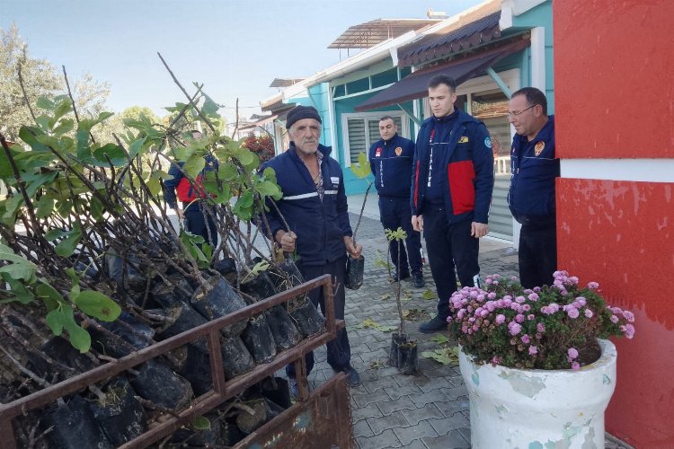
[[[375,198],[376,202],[376,198]],[[353,210],[351,208],[351,210]],[[355,227],[357,216],[350,216]],[[374,217],[373,217],[374,218]],[[362,384],[351,389],[353,436],[357,447],[453,448],[470,447],[470,424],[466,387],[458,366],[441,365],[421,357],[427,349],[439,348],[434,335],[421,334],[421,321],[435,313],[435,301],[423,299],[427,289],[434,290],[430,269],[424,270],[425,288],[403,282],[403,308],[417,318],[405,321],[405,331],[418,341],[419,374],[406,376],[387,365],[391,333],[359,329],[366,319],[384,326],[397,326],[394,287],[386,268],[375,260],[386,260],[386,239],[379,222],[363,217],[358,232],[366,258],[365,280],[357,291],[347,290],[346,323],[351,346],[351,364],[359,371]],[[517,253],[505,244],[483,239],[480,267],[482,276],[517,274]],[[445,332],[447,337],[448,333]],[[333,375],[325,362],[325,350],[315,353],[316,365],[309,375],[312,387]],[[625,447],[607,440],[607,448]]]

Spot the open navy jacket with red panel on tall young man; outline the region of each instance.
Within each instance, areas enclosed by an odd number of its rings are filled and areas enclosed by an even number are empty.
[[[448,221],[486,224],[494,180],[492,140],[483,122],[457,112],[453,126],[448,118],[436,117],[421,124],[412,162],[412,216],[423,215],[432,148],[433,171],[441,168]]]

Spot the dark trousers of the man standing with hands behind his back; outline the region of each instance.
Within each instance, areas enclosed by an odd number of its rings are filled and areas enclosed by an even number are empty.
[[[410,270],[412,273],[421,273],[421,233],[412,229],[410,198],[379,197],[379,216],[384,229],[395,231],[402,227],[407,233],[404,244],[400,242],[398,245],[395,241],[389,243],[391,260],[397,273],[401,277],[409,274]],[[398,267],[398,246],[400,246],[400,267]]]

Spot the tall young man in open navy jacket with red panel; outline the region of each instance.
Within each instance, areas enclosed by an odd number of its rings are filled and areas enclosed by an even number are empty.
[[[489,232],[492,140],[483,122],[454,109],[457,83],[447,75],[429,81],[433,117],[419,129],[412,173],[412,226],[423,231],[430,272],[438,289],[438,315],[421,332],[447,328],[449,297],[480,285],[479,239]]]

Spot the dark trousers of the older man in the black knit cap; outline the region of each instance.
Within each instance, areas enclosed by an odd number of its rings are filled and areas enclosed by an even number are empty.
[[[344,293],[344,272],[346,271],[346,255],[332,263],[326,265],[310,265],[303,266],[301,261],[297,263],[297,269],[302,273],[305,280],[315,279],[316,277],[330,274],[333,277],[333,286],[336,284],[337,289],[334,290],[334,317],[338,320],[344,319],[344,303],[346,301]],[[321,313],[325,313],[325,303],[323,298],[323,286],[315,288],[309,292],[309,299],[316,307],[320,305]],[[341,368],[350,364],[351,348],[349,346],[349,337],[346,335],[346,328],[337,330],[337,338],[328,341],[326,344],[328,352],[328,365],[333,367],[333,370],[340,371]],[[314,368],[314,352],[308,352],[305,356],[306,374],[311,373]],[[286,365],[286,374],[288,377],[295,377],[295,364]]]

